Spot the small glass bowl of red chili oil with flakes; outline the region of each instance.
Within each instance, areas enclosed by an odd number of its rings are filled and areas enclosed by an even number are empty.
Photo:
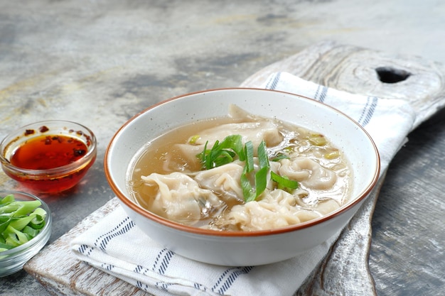
[[[74,187],[95,162],[92,131],[72,121],[23,126],[0,143],[1,166],[32,192],[55,194]]]

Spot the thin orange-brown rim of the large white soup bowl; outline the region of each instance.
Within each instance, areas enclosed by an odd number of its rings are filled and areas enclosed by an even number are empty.
[[[282,94],[290,94],[291,96],[296,96],[296,97],[300,97],[300,98],[304,98],[304,99],[310,99],[312,102],[316,102],[316,104],[321,104],[323,106],[326,106],[326,107],[328,107],[328,109],[332,109],[333,111],[337,112],[338,114],[341,114],[345,118],[349,119],[353,124],[358,126],[358,128],[360,128],[360,130],[363,131],[363,133],[365,133],[366,137],[369,139],[369,141],[371,143],[373,150],[375,151],[375,157],[377,159],[377,163],[375,165],[376,169],[375,169],[374,175],[372,176],[372,181],[365,187],[365,190],[363,190],[363,192],[361,192],[360,196],[358,196],[354,199],[353,202],[350,202],[346,205],[341,206],[340,208],[336,209],[336,211],[333,211],[333,212],[326,214],[324,216],[321,216],[319,218],[312,219],[312,220],[309,220],[309,221],[306,221],[306,222],[303,222],[300,224],[289,225],[289,226],[285,226],[285,227],[277,228],[277,229],[265,229],[265,230],[257,230],[257,231],[218,231],[218,230],[212,230],[212,229],[200,229],[198,227],[179,224],[175,221],[171,221],[171,220],[168,220],[161,216],[158,216],[156,214],[153,214],[153,213],[149,212],[149,210],[147,210],[147,209],[139,207],[137,204],[135,204],[134,202],[129,200],[125,196],[125,194],[122,191],[120,191],[116,185],[114,185],[114,182],[112,182],[111,173],[109,172],[109,168],[108,168],[109,149],[111,148],[112,144],[114,143],[114,139],[117,137],[117,135],[120,133],[120,131],[122,131],[132,121],[134,121],[134,119],[136,119],[141,114],[144,114],[147,111],[156,108],[157,106],[159,106],[161,104],[171,102],[175,99],[189,97],[193,94],[202,94],[202,93],[207,93],[207,92],[220,92],[220,91],[227,91],[227,90],[259,90],[262,92],[279,92]],[[323,104],[323,103],[318,102],[318,101],[311,99],[309,97],[301,96],[300,94],[293,94],[291,92],[282,92],[282,91],[273,90],[273,89],[259,89],[259,88],[253,88],[253,87],[232,87],[232,88],[207,89],[207,90],[203,90],[203,91],[199,91],[199,92],[190,92],[188,94],[182,94],[177,97],[172,97],[170,99],[166,99],[166,100],[163,100],[156,104],[153,104],[153,105],[149,106],[148,108],[142,110],[141,112],[135,114],[123,126],[121,126],[117,130],[117,132],[114,133],[114,135],[112,136],[112,139],[109,142],[107,149],[105,150],[105,154],[104,154],[104,172],[105,172],[105,177],[107,178],[107,182],[109,183],[109,186],[111,187],[112,191],[117,195],[117,198],[119,198],[121,202],[123,202],[127,207],[132,209],[134,212],[146,217],[147,219],[150,219],[151,221],[161,224],[163,226],[167,226],[172,229],[176,229],[178,231],[186,231],[188,233],[197,234],[197,235],[206,235],[206,236],[224,236],[224,237],[268,236],[268,235],[284,234],[286,232],[296,231],[299,229],[306,229],[306,228],[309,228],[316,224],[322,224],[325,221],[331,220],[331,219],[335,218],[336,216],[339,216],[343,212],[347,212],[350,208],[355,207],[356,204],[362,202],[363,199],[365,199],[365,197],[368,197],[368,194],[370,194],[372,189],[377,184],[377,180],[380,175],[380,154],[377,150],[377,146],[375,145],[375,143],[372,140],[368,131],[366,131],[365,128],[363,128],[363,126],[360,126],[360,124],[358,124],[357,121],[352,119],[350,116],[344,114],[343,111],[333,108],[332,106]]]

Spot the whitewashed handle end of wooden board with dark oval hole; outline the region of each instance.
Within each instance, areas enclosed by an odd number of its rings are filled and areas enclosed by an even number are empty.
[[[406,73],[407,77],[400,82],[382,82],[379,69],[394,76]],[[326,41],[265,67],[242,86],[261,85],[273,72],[290,72],[304,80],[353,94],[403,99],[417,114],[414,128],[445,105],[445,67],[422,57],[390,55]]]

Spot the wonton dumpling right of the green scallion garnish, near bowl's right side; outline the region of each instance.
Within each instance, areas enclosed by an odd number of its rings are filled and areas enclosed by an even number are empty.
[[[301,182],[302,185],[311,189],[326,190],[333,187],[337,181],[336,172],[324,168],[310,158],[297,157],[279,162],[282,164],[279,168],[280,175]]]

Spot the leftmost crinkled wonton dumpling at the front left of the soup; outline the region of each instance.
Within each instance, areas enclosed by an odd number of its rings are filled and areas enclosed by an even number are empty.
[[[221,203],[213,192],[200,188],[195,180],[181,172],[153,173],[141,178],[152,192],[151,212],[172,221],[193,225],[201,214]]]

